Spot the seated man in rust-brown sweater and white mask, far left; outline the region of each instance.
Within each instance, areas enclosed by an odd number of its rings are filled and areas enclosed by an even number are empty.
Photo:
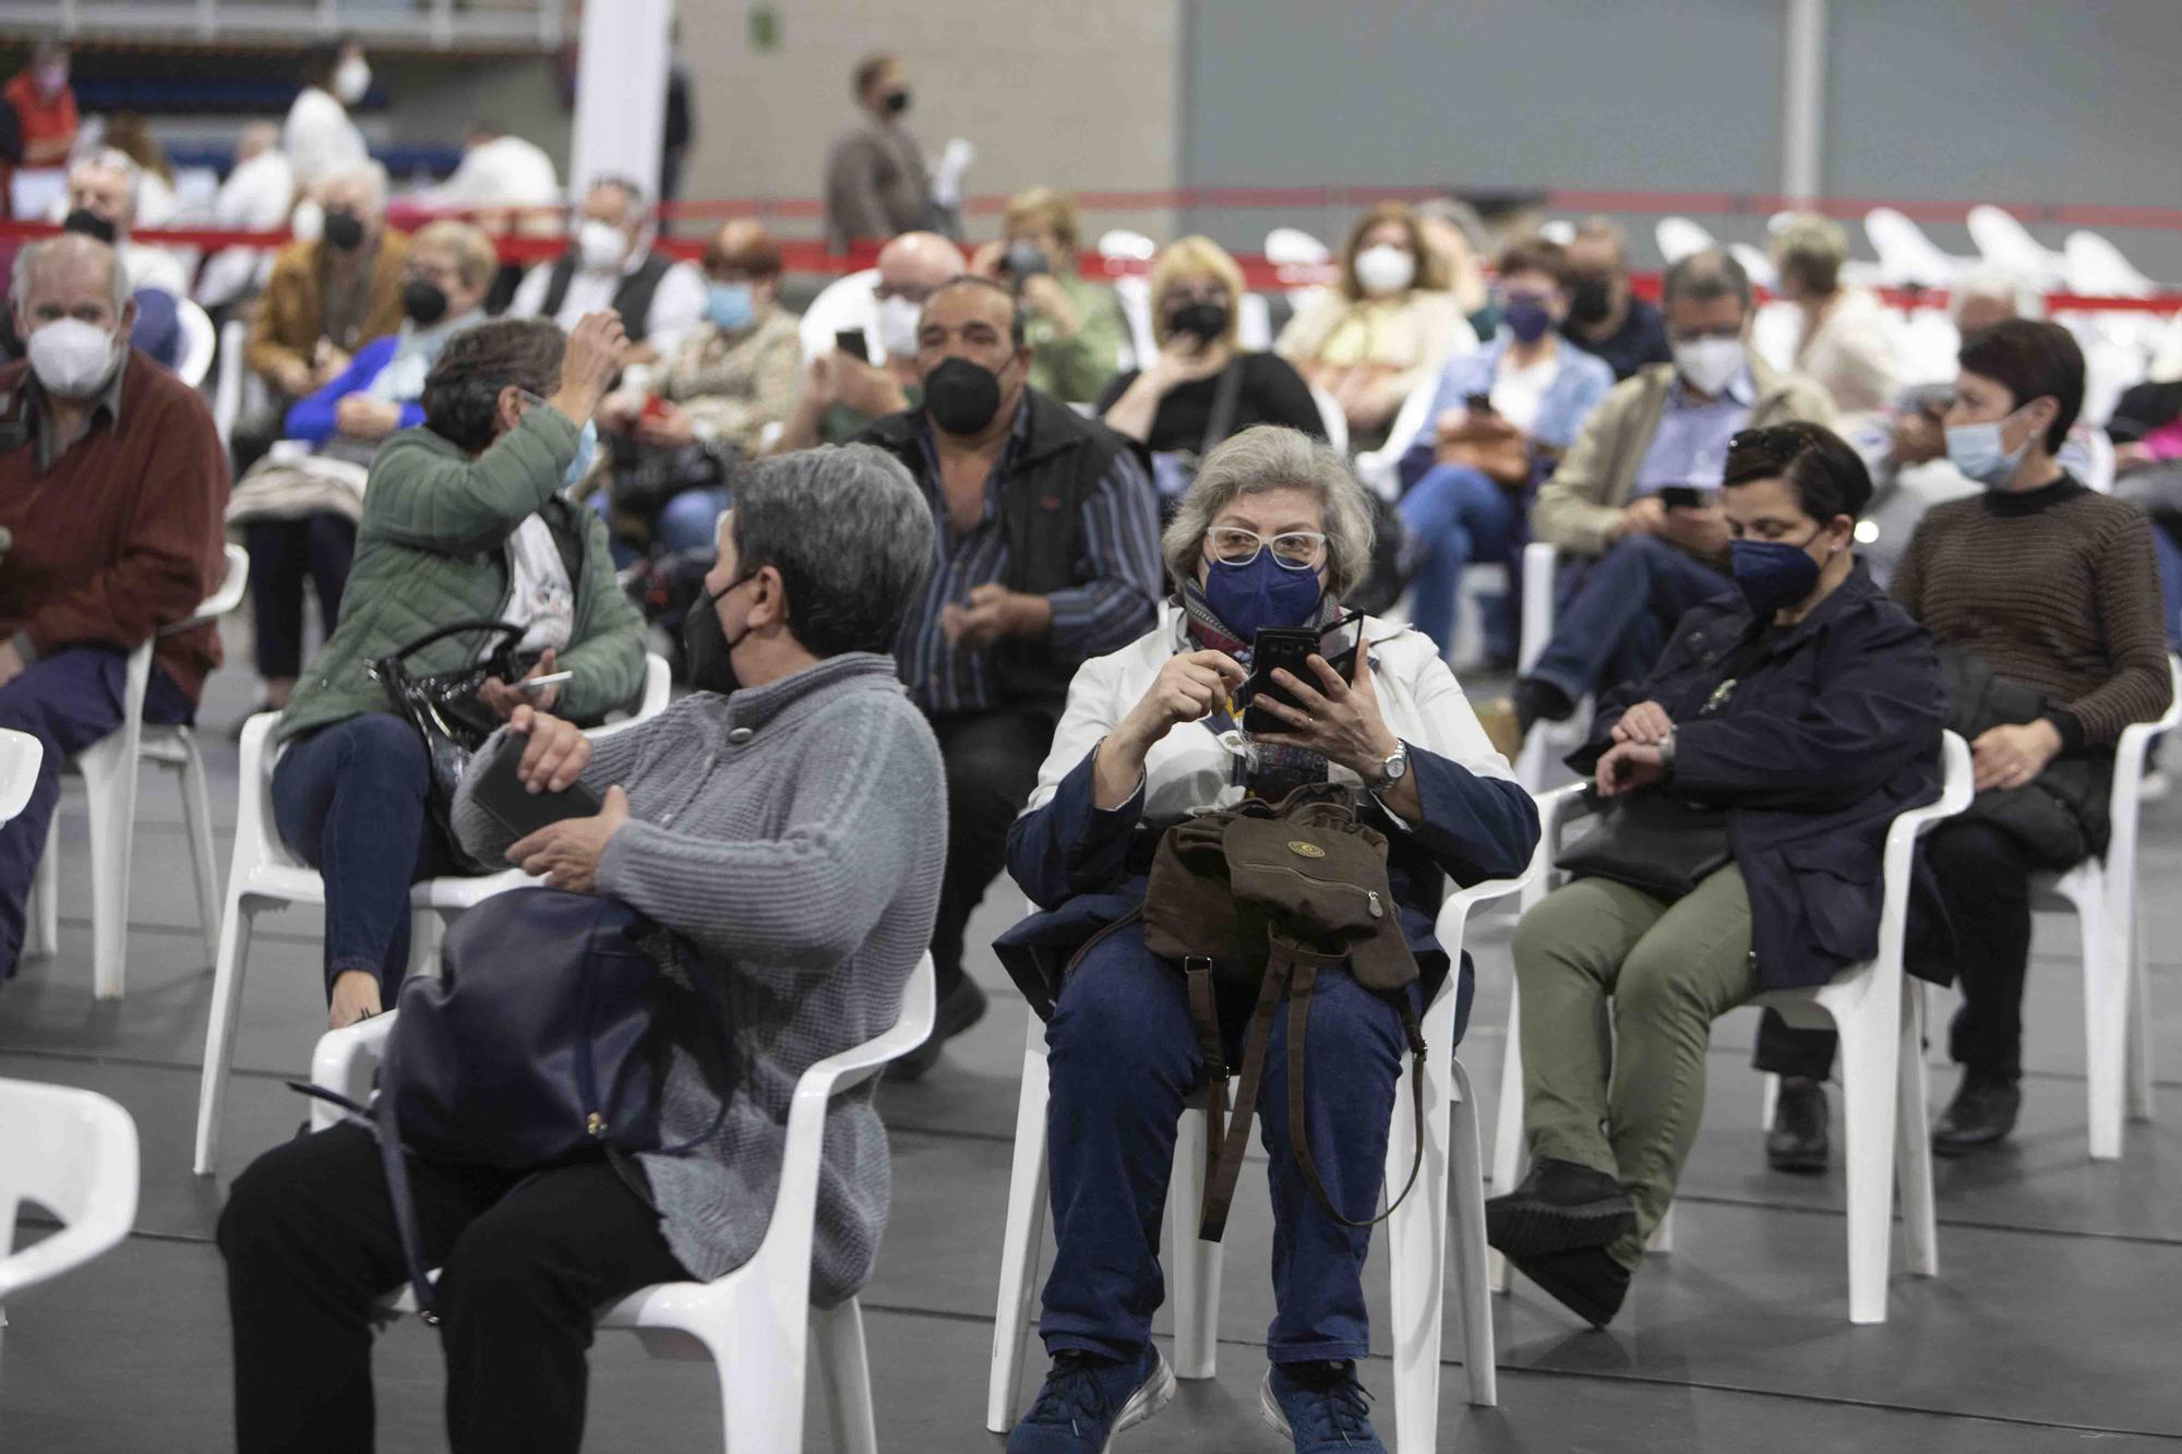
[[[15,332],[0,367],[0,727],[46,755],[0,827],[0,980],[22,952],[24,899],[61,797],[61,762],[122,725],[127,653],[157,637],[144,718],[185,723],[220,633],[175,635],[225,572],[227,458],[194,389],[129,347],[113,249],[83,236],[15,255]]]

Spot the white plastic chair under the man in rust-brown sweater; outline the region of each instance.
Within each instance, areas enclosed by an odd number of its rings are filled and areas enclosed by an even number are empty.
[[[227,576],[190,620],[161,631],[172,635],[227,616],[242,605],[251,579],[251,557],[240,546],[227,546]],[[153,762],[181,779],[181,821],[190,841],[190,869],[196,875],[199,930],[205,954],[212,954],[212,926],[220,889],[212,858],[212,797],[205,788],[205,760],[196,751],[196,734],[181,725],[144,720],[144,694],[151,688],[151,651],[144,642],[129,653],[122,688],[122,729],[76,753],[63,771],[81,773],[83,799],[92,821],[92,991],[100,1000],[122,998],[122,974],[129,956],[129,865],[135,849],[137,764]],[[61,854],[55,832],[46,834],[46,856],[31,882],[28,934],[24,954],[52,954],[61,939]]]

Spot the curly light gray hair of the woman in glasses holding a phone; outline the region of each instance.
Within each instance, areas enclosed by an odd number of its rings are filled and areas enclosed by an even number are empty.
[[[1159,539],[1174,585],[1198,579],[1204,533],[1228,504],[1274,489],[1300,489],[1318,500],[1327,531],[1327,594],[1340,600],[1362,585],[1372,541],[1364,487],[1333,445],[1279,424],[1255,424],[1228,437],[1198,465],[1196,482]]]

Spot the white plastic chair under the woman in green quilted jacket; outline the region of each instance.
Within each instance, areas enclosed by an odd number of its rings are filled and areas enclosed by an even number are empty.
[[[644,696],[628,723],[591,731],[594,738],[650,720],[668,705],[668,664],[644,659]],[[260,712],[242,725],[242,762],[236,786],[236,849],[227,865],[227,906],[212,956],[212,1013],[205,1024],[205,1068],[196,1089],[196,1155],[192,1170],[209,1177],[220,1157],[220,1120],[227,1109],[227,1076],[236,1059],[236,1024],[242,1017],[242,974],[251,954],[251,926],[268,908],[292,904],[325,906],[325,880],[288,851],[273,821],[273,753],[268,751],[277,712]],[[439,963],[439,945],[452,915],[473,908],[495,893],[532,882],[521,869],[487,878],[428,878],[410,889],[410,972]]]

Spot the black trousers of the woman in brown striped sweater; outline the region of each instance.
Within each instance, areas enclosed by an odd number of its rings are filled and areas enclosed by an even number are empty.
[[[1949,1057],[1981,1076],[2023,1074],[2023,980],[2031,961],[2031,873],[2038,862],[2007,832],[1977,819],[1940,823],[1922,843],[1940,880],[1955,950],[1927,948],[1933,937],[1909,926],[1909,972],[1962,987],[1962,1009],[1949,1026]],[[1757,1068],[1783,1076],[1826,1078],[1833,1030],[1798,1030],[1765,1011]]]

